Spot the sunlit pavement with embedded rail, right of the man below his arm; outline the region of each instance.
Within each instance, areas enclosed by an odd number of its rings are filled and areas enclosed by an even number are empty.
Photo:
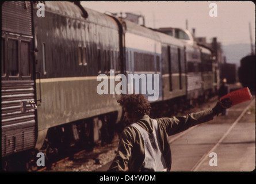
[[[171,137],[171,171],[254,170],[255,97],[251,102],[232,107],[229,114]],[[250,114],[250,121],[244,119]],[[216,154],[217,166],[209,163],[213,158],[211,153]]]

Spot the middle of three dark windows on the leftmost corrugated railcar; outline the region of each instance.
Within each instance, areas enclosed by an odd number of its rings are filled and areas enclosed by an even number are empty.
[[[10,76],[18,75],[18,40],[8,40],[7,58]]]

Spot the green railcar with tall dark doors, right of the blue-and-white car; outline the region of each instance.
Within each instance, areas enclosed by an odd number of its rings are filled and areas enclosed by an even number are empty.
[[[174,37],[158,32],[162,52],[163,101],[186,95],[185,45]]]

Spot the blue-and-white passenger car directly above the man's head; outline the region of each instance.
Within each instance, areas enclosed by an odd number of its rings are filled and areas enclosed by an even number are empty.
[[[123,25],[128,93],[142,93],[151,102],[161,101],[162,59],[158,34],[130,21],[120,22]],[[135,85],[139,85],[139,89]]]

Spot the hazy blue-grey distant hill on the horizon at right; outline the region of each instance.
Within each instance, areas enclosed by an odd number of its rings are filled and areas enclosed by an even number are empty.
[[[251,52],[250,44],[232,44],[222,45],[223,55],[226,56],[227,63],[234,63],[237,67],[240,66],[240,59],[247,56]]]

